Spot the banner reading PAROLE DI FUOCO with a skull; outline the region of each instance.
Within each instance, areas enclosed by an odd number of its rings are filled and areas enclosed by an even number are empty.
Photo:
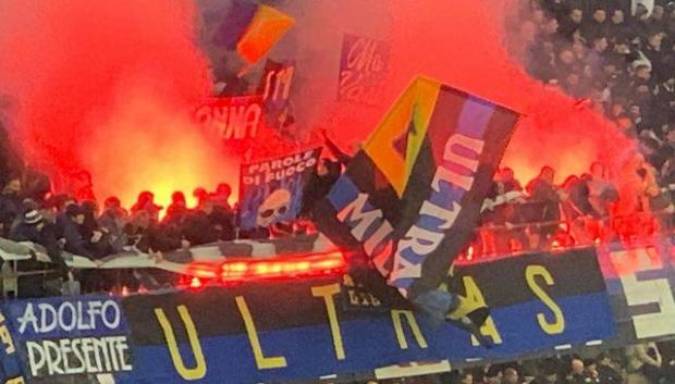
[[[242,164],[240,178],[241,227],[269,227],[297,218],[303,190],[311,176],[321,148]]]

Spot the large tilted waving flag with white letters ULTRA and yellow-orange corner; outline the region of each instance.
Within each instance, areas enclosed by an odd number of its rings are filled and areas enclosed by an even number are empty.
[[[417,78],[317,205],[320,231],[408,296],[437,288],[474,236],[517,120]]]

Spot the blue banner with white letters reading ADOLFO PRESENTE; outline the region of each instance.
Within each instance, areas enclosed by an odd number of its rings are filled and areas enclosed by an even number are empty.
[[[99,383],[134,370],[126,320],[114,298],[10,301],[4,312],[30,383]]]

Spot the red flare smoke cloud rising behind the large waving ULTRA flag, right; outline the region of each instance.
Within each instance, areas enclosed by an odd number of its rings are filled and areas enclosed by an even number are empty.
[[[514,41],[505,29],[506,17],[521,3],[520,0],[302,3],[298,5],[302,10],[293,11],[320,24],[321,28],[306,28],[300,20],[297,29],[289,35],[304,45],[299,53],[293,52],[300,55],[298,67],[314,71],[308,84],[303,84],[298,113],[310,115],[311,119],[306,119],[309,127],[311,124],[329,127],[348,148],[372,132],[415,76],[424,75],[524,114],[503,161],[524,183],[535,177],[543,165],[557,170],[556,182],[562,183],[570,174],[588,172],[597,160],[605,162],[614,177],[621,177],[634,145],[602,115],[531,78],[518,58],[510,55],[507,42],[520,45],[520,51],[526,49],[527,41]],[[376,107],[335,100],[343,33],[391,44],[390,78]],[[330,60],[304,52],[329,52]]]

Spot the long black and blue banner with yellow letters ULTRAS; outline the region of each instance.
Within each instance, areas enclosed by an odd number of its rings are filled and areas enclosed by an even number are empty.
[[[403,308],[344,310],[342,280],[249,283],[125,298],[134,372],[116,382],[316,380],[407,361],[525,356],[614,335],[592,249],[467,265],[457,276],[458,289],[493,308],[482,330],[492,349]]]

